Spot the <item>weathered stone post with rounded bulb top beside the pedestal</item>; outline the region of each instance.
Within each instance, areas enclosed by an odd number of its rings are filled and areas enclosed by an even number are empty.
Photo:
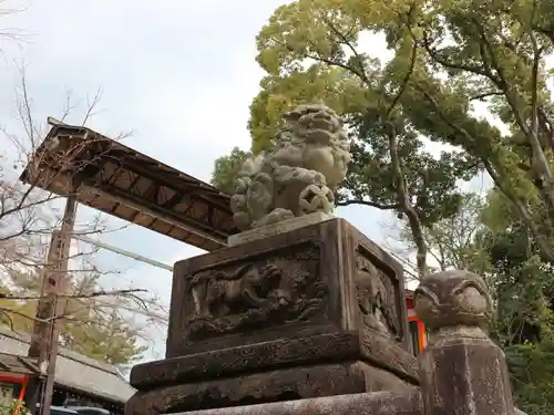
[[[483,331],[493,310],[481,277],[432,274],[416,290],[414,301],[431,330],[420,356],[425,415],[513,415],[504,354]]]

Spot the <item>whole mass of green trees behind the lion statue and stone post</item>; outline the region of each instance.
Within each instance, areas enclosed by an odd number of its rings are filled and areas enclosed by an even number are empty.
[[[394,211],[420,277],[429,261],[486,278],[529,414],[554,402],[553,21],[554,0],[296,0],[256,39],[266,75],[248,122],[258,154],[298,104],[345,117],[338,204]],[[236,170],[222,166],[246,155],[219,158],[213,183],[229,191]],[[480,173],[486,198],[461,190]]]

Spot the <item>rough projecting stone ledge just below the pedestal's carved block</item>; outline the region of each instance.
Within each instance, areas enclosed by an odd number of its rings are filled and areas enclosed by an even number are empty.
[[[371,334],[368,333],[367,335]],[[396,361],[387,360],[394,351],[399,356],[406,355],[406,351],[399,346],[388,351],[386,342],[382,343],[381,350],[367,351],[365,343],[360,343],[359,336],[360,334],[353,331],[294,340],[281,339],[143,363],[132,369],[131,384],[141,391],[162,385],[202,382],[222,376],[228,377],[242,373],[263,372],[291,365],[301,366],[326,361],[346,362],[366,357],[376,367],[391,372],[393,377],[406,378],[411,383],[417,382],[417,373],[413,369],[414,360],[402,357]],[[366,344],[375,343],[366,342]],[[375,357],[375,355],[379,355],[378,353],[381,353],[382,359]],[[396,364],[391,364],[391,362],[396,362]],[[409,365],[403,367],[402,364],[406,364],[406,362],[409,362]]]

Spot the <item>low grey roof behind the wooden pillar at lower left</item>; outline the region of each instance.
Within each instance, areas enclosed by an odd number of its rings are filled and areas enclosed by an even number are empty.
[[[29,343],[28,334],[14,333],[0,326],[0,353],[25,356]],[[125,403],[135,392],[116,367],[65,349],[61,349],[58,355],[55,382],[61,386],[121,403]]]

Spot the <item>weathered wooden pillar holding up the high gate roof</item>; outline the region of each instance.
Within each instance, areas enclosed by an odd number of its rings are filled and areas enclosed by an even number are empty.
[[[68,289],[68,264],[71,236],[75,225],[76,198],[71,195],[65,201],[62,226],[52,232],[47,266],[42,270],[41,299],[37,308],[33,336],[28,355],[38,359],[43,376],[39,402],[39,415],[50,415],[54,390],[55,361],[60,338],[60,317],[65,310],[66,299],[60,298]],[[35,408],[30,408],[33,413]]]

